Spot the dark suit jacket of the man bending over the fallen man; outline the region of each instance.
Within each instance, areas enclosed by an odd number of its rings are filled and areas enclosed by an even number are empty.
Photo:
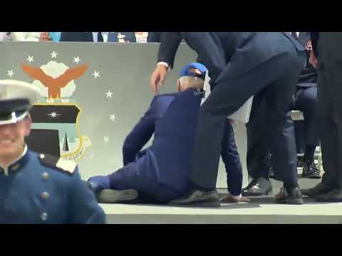
[[[240,70],[236,71],[244,73],[285,53],[285,40],[290,41],[296,50],[304,50],[301,43],[285,32],[165,32],[158,62],[169,63],[172,68],[182,38],[208,68],[213,84],[228,63],[238,64]]]

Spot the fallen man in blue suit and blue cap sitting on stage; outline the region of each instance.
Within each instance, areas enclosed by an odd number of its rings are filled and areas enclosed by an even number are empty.
[[[88,180],[100,203],[136,202],[138,198],[139,202],[164,204],[187,191],[206,73],[207,68],[202,64],[186,65],[177,80],[178,92],[153,98],[149,110],[125,139],[124,167],[108,176]],[[152,146],[140,151],[152,134]],[[232,194],[225,200],[244,201],[245,198],[241,198],[242,169],[228,119],[225,134],[222,159],[227,166]],[[202,203],[202,206],[211,204]]]

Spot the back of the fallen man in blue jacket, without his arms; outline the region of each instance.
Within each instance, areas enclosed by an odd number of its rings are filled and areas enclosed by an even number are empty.
[[[155,126],[155,139],[148,149],[150,153],[147,153],[147,157],[157,162],[158,181],[180,190],[187,186],[186,177],[195,143],[195,127],[202,100],[196,92],[196,89],[189,88],[175,94],[164,117]]]

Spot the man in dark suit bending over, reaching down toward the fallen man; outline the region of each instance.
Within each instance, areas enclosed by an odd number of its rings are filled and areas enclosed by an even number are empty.
[[[239,110],[252,95],[266,102],[262,110],[266,122],[260,124],[264,126],[264,150],[266,154],[271,148],[276,159],[275,178],[284,181],[286,189],[286,195],[277,201],[303,203],[296,175],[294,126],[287,114],[305,63],[303,46],[281,32],[165,32],[158,54],[159,65],[151,77],[155,92],[172,68],[182,38],[207,66],[213,90],[199,114],[190,176],[193,188],[171,203],[182,206],[215,200],[211,195],[216,189],[224,122],[227,115]],[[284,67],[290,68],[284,70]]]

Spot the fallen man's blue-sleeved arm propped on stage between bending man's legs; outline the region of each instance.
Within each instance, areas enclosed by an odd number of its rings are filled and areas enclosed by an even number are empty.
[[[242,164],[234,138],[234,130],[229,119],[226,120],[222,138],[222,161],[226,168],[228,191],[232,196],[241,196]]]

